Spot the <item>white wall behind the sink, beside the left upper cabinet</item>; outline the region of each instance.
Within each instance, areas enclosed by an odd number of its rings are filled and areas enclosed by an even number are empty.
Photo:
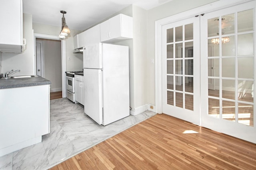
[[[2,73],[10,70],[20,70],[15,75],[33,75],[33,31],[32,15],[23,14],[23,37],[26,39],[26,50],[24,53],[2,53]]]

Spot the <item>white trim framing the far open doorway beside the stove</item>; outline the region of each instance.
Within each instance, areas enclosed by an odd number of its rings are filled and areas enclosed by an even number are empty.
[[[36,38],[46,38],[46,39],[55,39],[60,40],[56,35],[47,35],[34,33],[34,74],[36,75]],[[66,98],[66,40],[61,40],[61,56],[62,56],[62,98]]]

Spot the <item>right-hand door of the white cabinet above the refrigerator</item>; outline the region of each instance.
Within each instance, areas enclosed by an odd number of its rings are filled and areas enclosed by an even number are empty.
[[[121,14],[109,19],[109,39],[121,37]]]

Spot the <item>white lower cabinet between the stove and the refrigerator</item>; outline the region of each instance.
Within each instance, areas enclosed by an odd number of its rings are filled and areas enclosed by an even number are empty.
[[[84,105],[84,76],[75,74],[75,100]]]

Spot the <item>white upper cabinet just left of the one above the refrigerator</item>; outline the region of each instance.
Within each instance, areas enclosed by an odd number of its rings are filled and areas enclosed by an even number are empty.
[[[100,43],[100,24],[78,34],[78,47]]]

